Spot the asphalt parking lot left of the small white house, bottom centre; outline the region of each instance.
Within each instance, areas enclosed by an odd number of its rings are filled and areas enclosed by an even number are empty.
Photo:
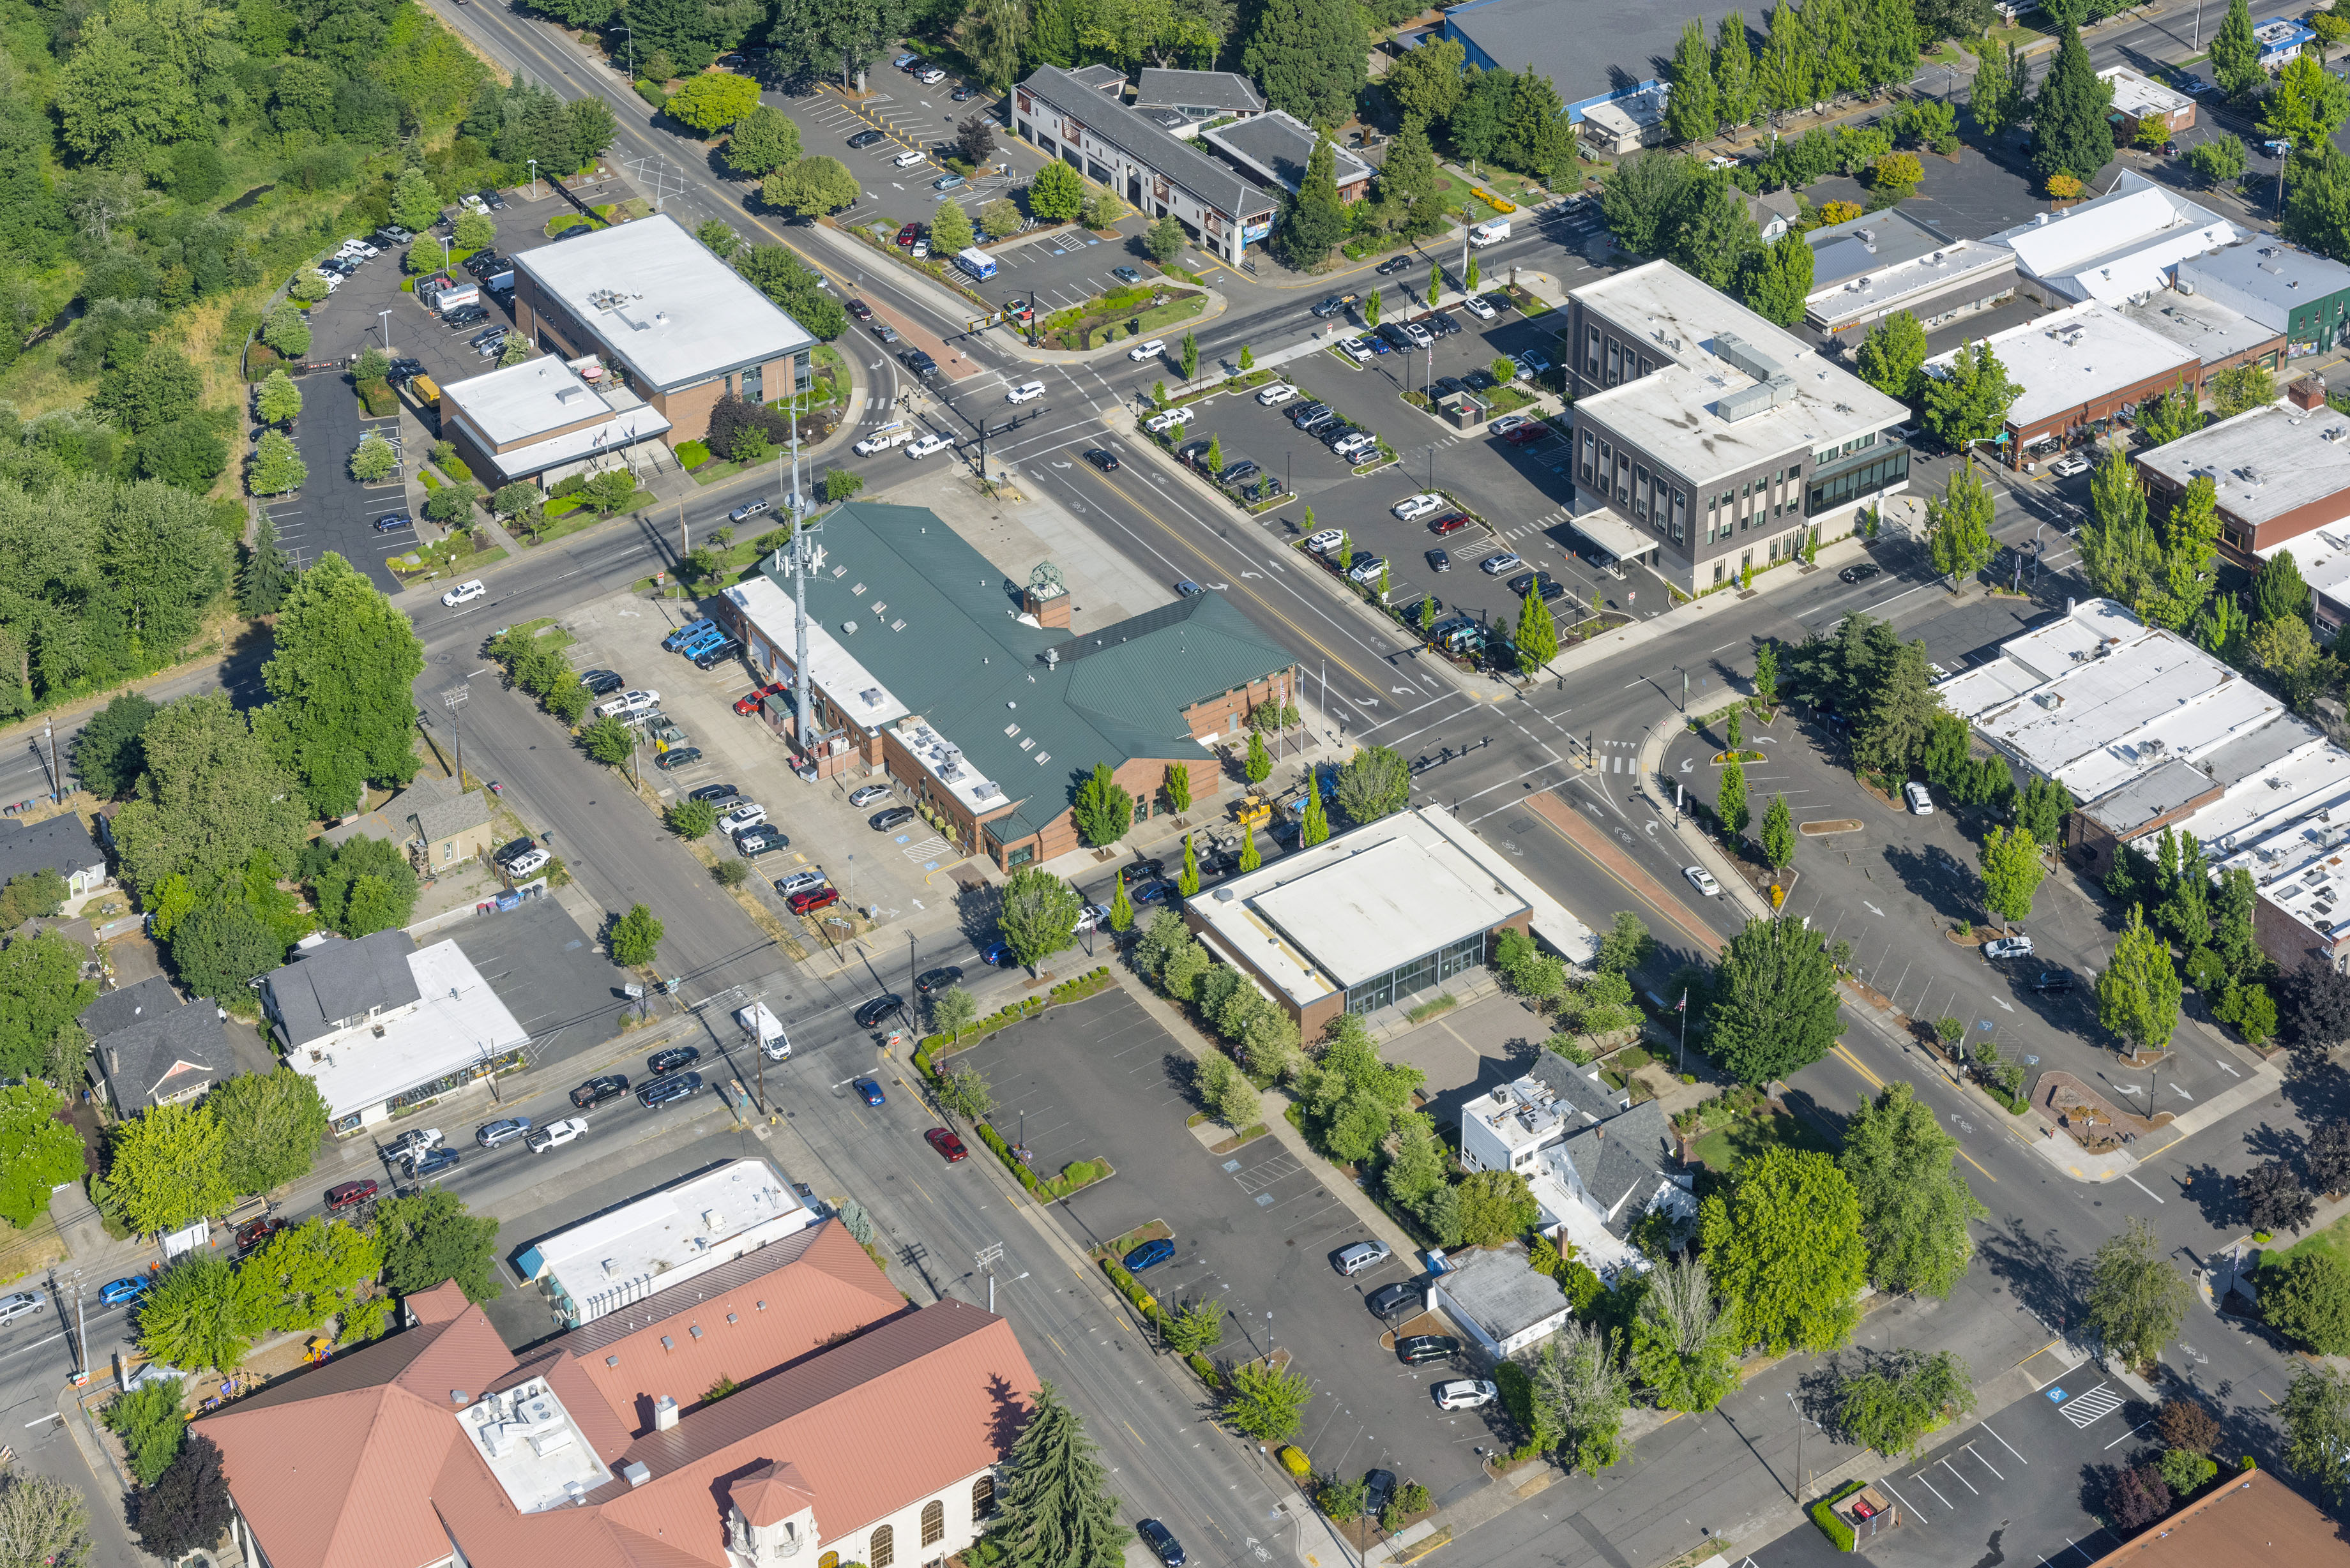
[[[1495,1436],[1480,1410],[1443,1413],[1429,1389],[1469,1366],[1401,1366],[1389,1326],[1363,1305],[1379,1286],[1415,1276],[1410,1258],[1344,1279],[1332,1255],[1365,1239],[1321,1161],[1300,1161],[1276,1138],[1227,1154],[1184,1126],[1191,1058],[1123,992],[996,1034],[954,1058],[994,1088],[994,1126],[1034,1150],[1039,1171],[1107,1157],[1116,1175],[1058,1206],[1081,1246],[1107,1244],[1149,1220],[1173,1229],[1175,1255],[1144,1284],[1173,1305],[1220,1300],[1217,1356],[1290,1352],[1314,1385],[1297,1443],[1323,1474],[1370,1467],[1422,1481],[1438,1505],[1483,1486],[1478,1446]],[[1215,1128],[1203,1128],[1215,1131]]]

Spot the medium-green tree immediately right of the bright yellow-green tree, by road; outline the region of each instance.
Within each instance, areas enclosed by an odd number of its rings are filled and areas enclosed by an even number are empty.
[[[1974,1258],[1969,1220],[1990,1215],[1958,1173],[1958,1140],[1908,1084],[1887,1084],[1845,1126],[1838,1166],[1861,1206],[1868,1279],[1946,1300]]]

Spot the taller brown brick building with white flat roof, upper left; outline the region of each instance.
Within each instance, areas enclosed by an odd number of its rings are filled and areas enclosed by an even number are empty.
[[[515,329],[564,360],[595,355],[606,386],[710,435],[733,393],[776,402],[808,386],[815,336],[750,287],[677,219],[651,216],[515,256]]]

